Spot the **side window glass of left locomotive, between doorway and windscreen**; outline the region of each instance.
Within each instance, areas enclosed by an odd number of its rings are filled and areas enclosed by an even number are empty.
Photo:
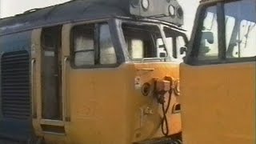
[[[74,26],[73,61],[76,67],[94,67],[117,63],[110,28],[106,23]]]

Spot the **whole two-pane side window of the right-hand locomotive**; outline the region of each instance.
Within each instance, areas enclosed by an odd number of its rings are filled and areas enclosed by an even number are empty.
[[[218,2],[202,10],[194,43],[199,62],[250,61],[256,56],[254,0]]]

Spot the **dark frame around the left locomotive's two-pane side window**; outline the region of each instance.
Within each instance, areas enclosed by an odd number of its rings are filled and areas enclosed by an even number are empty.
[[[94,25],[94,65],[83,65],[83,66],[76,66],[74,63],[75,58],[75,50],[74,50],[74,28],[76,26],[86,26],[86,25]],[[117,62],[114,64],[100,64],[100,24],[107,24],[109,26],[110,30],[110,37],[111,41],[114,47],[114,52],[117,58]],[[115,23],[113,22],[113,19],[98,19],[94,21],[88,21],[88,22],[78,22],[71,26],[70,28],[70,66],[73,69],[95,69],[95,68],[115,68],[121,65],[122,61],[122,50],[118,50],[120,46],[116,43],[114,40],[114,37],[116,36],[116,32],[114,31]],[[120,48],[119,48],[120,49]]]

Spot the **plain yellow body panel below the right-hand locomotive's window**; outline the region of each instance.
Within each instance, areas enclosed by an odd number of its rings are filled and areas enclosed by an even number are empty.
[[[185,144],[254,144],[255,62],[181,66]]]

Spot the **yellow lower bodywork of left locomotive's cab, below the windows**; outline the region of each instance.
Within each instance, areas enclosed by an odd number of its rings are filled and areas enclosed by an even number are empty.
[[[155,70],[136,72],[143,68]],[[66,126],[70,142],[130,143],[162,137],[161,105],[153,95],[142,95],[134,79],[140,76],[142,83],[151,82],[152,78],[165,78],[166,70],[178,74],[178,65],[127,64],[114,69],[74,70],[69,85],[72,122]],[[180,114],[171,110],[176,98],[173,94],[167,114],[170,134],[181,132]],[[152,113],[144,114],[147,109]]]

